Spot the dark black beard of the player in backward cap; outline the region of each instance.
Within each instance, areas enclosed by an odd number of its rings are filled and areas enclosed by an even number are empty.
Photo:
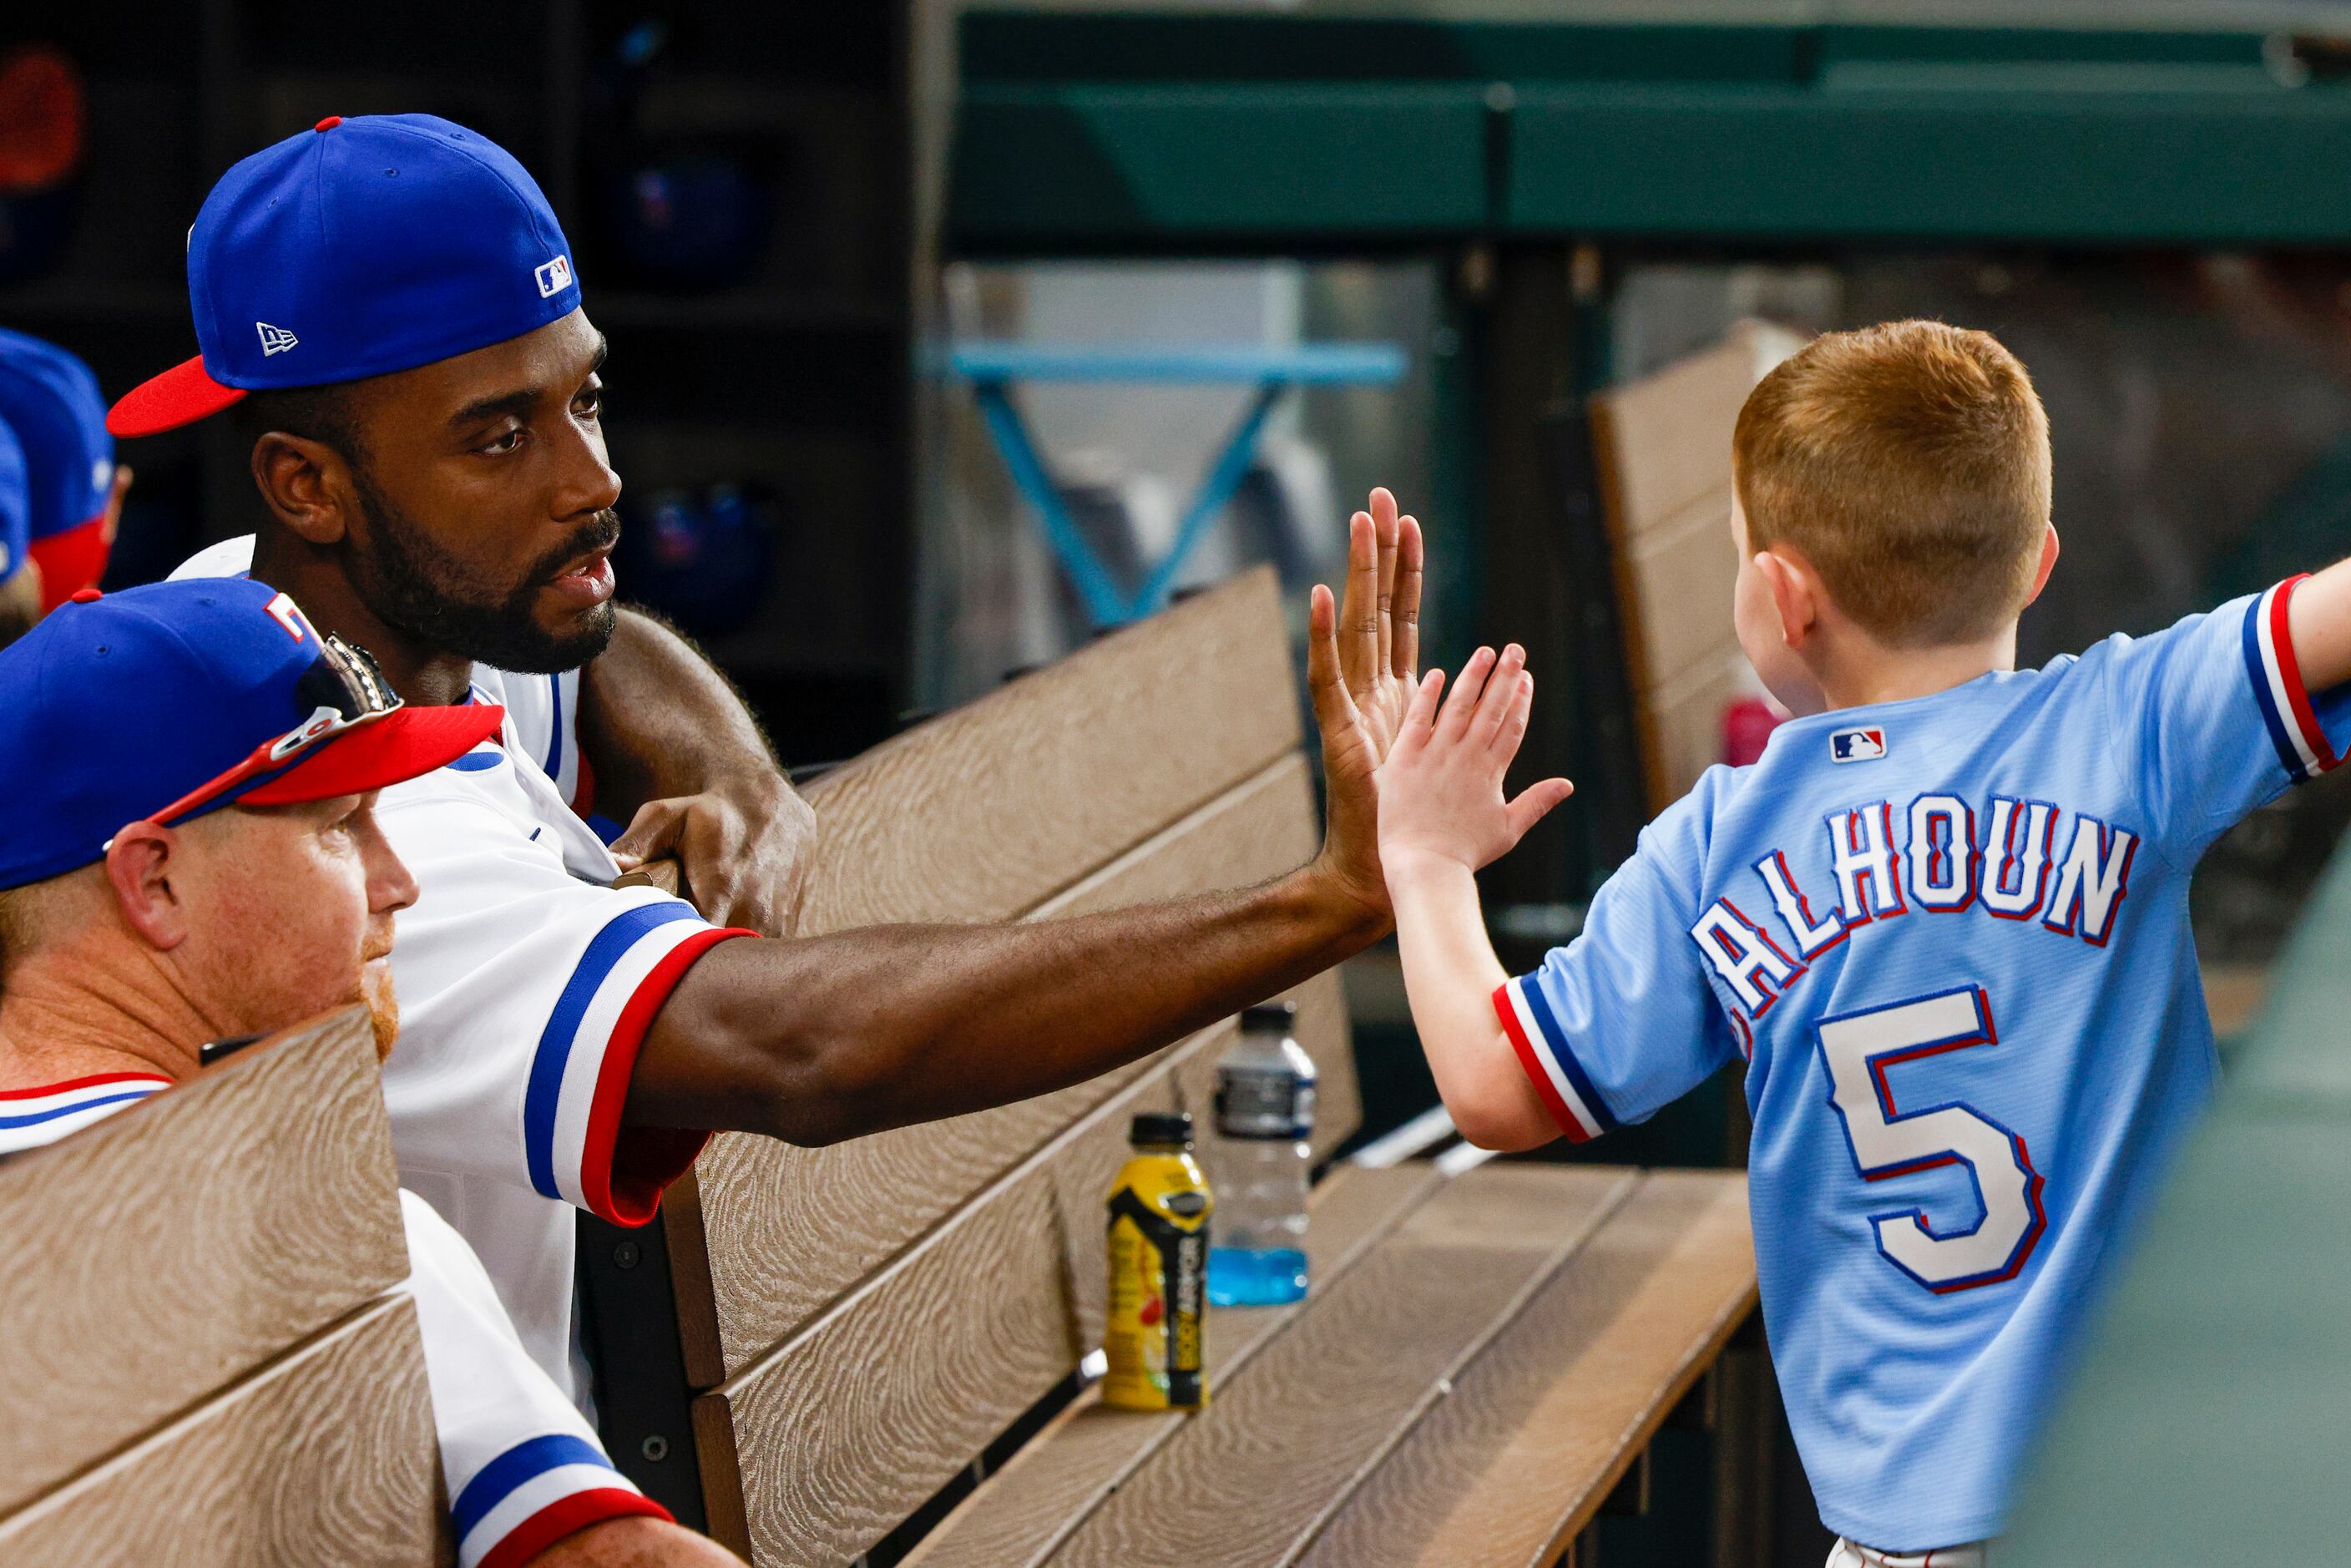
[[[393,630],[430,649],[517,675],[576,670],[611,642],[611,602],[597,604],[571,637],[543,632],[531,609],[538,590],[564,567],[621,538],[616,512],[597,512],[578,534],[534,562],[522,583],[498,592],[465,562],[433,543],[367,473],[353,470],[353,482],[374,541],[374,550],[350,552],[353,585],[367,609]]]

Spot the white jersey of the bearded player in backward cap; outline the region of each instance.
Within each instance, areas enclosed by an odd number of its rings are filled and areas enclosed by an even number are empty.
[[[176,576],[228,576],[249,559],[252,541],[230,541]],[[418,886],[395,922],[400,1044],[383,1103],[402,1185],[473,1244],[524,1349],[585,1406],[571,1208],[644,1225],[694,1164],[705,1133],[623,1131],[621,1105],[677,980],[715,943],[750,933],[654,889],[611,886],[621,867],[543,766],[555,757],[578,773],[576,686],[477,668],[475,701],[505,703],[498,738],[376,799]]]

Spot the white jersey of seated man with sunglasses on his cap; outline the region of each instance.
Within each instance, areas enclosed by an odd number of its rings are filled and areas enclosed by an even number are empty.
[[[108,1072],[0,1091],[0,1157],[56,1143],[169,1086],[148,1072]],[[423,1331],[458,1568],[513,1568],[600,1519],[668,1519],[611,1467],[581,1413],[522,1349],[465,1239],[414,1192],[400,1194],[400,1220],[409,1237],[402,1288]]]

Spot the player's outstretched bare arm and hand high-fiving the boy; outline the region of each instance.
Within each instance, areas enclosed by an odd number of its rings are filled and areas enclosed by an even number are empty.
[[[1321,853],[1255,889],[1011,926],[875,926],[719,943],[654,1016],[635,1126],[818,1145],[1063,1088],[1298,985],[1387,933],[1382,722],[1418,534],[1357,515],[1345,604],[1314,592],[1307,682],[1328,780]],[[1392,522],[1394,520],[1394,522]],[[1345,637],[1345,649],[1342,649]]]

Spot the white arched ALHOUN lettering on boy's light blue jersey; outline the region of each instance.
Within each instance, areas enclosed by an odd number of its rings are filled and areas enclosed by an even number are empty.
[[[1822,884],[1815,900],[1775,849],[1754,865],[1761,896],[1751,907],[1761,919],[1723,896],[1690,926],[1690,940],[1747,1018],[1768,1013],[1813,959],[1857,926],[1914,910],[2038,917],[2043,931],[2104,947],[2139,846],[2128,827],[2005,795],[1994,795],[1982,813],[1956,795],[1921,795],[1900,809],[1881,799],[1829,813],[1824,830],[1834,898]]]

